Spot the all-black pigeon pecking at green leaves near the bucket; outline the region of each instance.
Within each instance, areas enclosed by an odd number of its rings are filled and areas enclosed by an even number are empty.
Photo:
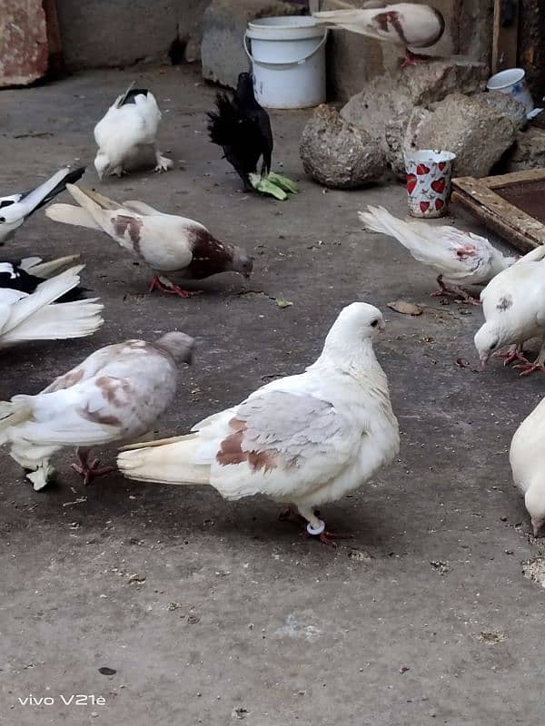
[[[260,158],[262,174],[271,171],[273,141],[271,119],[255,100],[252,76],[240,74],[233,99],[218,93],[215,104],[217,112],[208,113],[210,139],[223,147],[225,159],[243,180],[244,191],[253,191],[250,174],[257,172]]]

